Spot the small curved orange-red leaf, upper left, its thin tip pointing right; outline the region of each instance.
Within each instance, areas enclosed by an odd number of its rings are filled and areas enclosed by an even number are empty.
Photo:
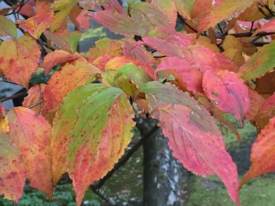
[[[54,52],[50,52],[44,57],[41,67],[43,67],[45,73],[48,74],[52,67],[71,60],[76,60],[77,58],[80,58],[80,56],[80,54],[70,54],[63,50],[54,50]]]

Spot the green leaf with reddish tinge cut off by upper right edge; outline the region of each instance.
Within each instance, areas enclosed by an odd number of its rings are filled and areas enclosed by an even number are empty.
[[[258,52],[241,66],[238,75],[245,81],[264,76],[275,67],[275,41],[258,49]]]

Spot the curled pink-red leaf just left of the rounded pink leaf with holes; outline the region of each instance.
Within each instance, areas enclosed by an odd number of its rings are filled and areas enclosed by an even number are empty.
[[[182,82],[187,85],[187,90],[193,93],[202,92],[202,73],[192,68],[190,62],[177,56],[162,60],[155,72],[172,70],[179,73]]]

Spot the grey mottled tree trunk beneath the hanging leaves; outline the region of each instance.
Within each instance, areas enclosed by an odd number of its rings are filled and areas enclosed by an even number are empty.
[[[144,120],[142,135],[155,124],[155,119]],[[167,142],[160,128],[144,142],[144,206],[184,205],[185,175]]]

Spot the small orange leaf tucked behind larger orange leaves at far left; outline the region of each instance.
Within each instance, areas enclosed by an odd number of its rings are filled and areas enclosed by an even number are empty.
[[[42,94],[45,90],[46,84],[36,84],[34,87],[28,90],[28,96],[24,98],[22,106],[29,107],[38,104],[37,106],[32,107],[32,110],[39,114],[41,112],[41,107],[43,106]]]

